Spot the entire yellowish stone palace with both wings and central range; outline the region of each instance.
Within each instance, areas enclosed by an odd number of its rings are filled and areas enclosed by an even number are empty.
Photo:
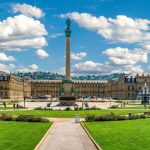
[[[150,87],[150,74],[133,73],[109,81],[73,80],[76,98],[95,96],[120,100],[137,99],[145,83]],[[59,98],[61,86],[62,80],[27,80],[0,72],[1,99],[42,98],[45,95]]]

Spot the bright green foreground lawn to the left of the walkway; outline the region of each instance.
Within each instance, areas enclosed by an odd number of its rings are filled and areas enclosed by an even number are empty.
[[[52,123],[0,121],[1,150],[31,150]]]

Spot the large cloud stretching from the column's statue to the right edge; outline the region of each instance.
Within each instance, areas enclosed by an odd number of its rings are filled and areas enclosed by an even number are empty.
[[[79,26],[96,31],[99,35],[111,41],[136,43],[150,40],[150,20],[148,19],[133,19],[125,15],[118,15],[113,19],[79,12],[60,15],[61,18],[68,16]]]

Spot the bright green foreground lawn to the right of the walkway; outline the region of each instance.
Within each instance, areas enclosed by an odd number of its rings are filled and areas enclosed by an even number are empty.
[[[150,119],[83,124],[103,150],[150,149]]]

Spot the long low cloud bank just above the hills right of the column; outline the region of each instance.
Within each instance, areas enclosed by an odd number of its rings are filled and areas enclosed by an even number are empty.
[[[96,63],[85,61],[72,66],[73,74],[110,74],[110,73],[141,73],[143,69],[140,65],[124,65],[122,67],[112,65],[108,62]]]

